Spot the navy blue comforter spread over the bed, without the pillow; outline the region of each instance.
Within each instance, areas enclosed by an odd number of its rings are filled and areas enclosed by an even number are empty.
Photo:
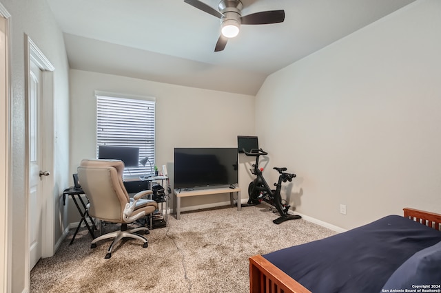
[[[409,257],[440,241],[440,231],[391,215],[263,257],[311,292],[371,293]]]

